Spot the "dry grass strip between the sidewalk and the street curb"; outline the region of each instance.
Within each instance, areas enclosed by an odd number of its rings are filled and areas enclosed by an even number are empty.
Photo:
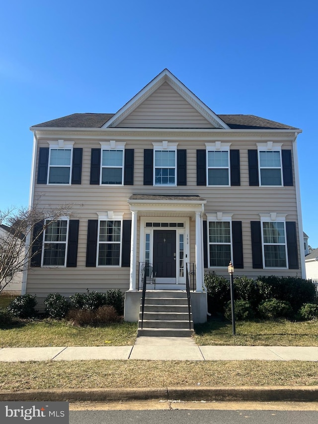
[[[0,363],[0,390],[189,386],[315,386],[301,361],[47,361]]]

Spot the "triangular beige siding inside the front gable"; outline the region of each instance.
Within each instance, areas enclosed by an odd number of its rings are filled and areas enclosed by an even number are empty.
[[[213,128],[171,85],[163,83],[118,128]]]

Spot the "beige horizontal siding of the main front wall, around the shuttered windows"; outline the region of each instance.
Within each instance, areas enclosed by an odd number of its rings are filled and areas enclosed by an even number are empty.
[[[59,135],[66,139],[66,136]],[[69,138],[71,139],[71,138]],[[105,141],[107,138],[103,138]],[[111,140],[115,136],[111,136]],[[163,140],[168,137],[162,136]],[[39,147],[48,147],[47,140],[40,139]],[[237,269],[237,275],[257,277],[258,275],[301,275],[301,270],[282,269],[252,269],[252,251],[250,221],[259,221],[259,213],[277,212],[287,214],[286,221],[297,222],[297,205],[295,186],[291,187],[255,187],[249,186],[248,180],[248,149],[256,149],[256,140],[233,141],[231,148],[240,151],[240,186],[205,187],[196,185],[196,149],[205,149],[207,140],[200,140],[199,135],[178,142],[178,149],[187,150],[187,185],[176,187],[153,187],[143,185],[144,149],[152,149],[153,139],[130,140],[125,138],[126,149],[134,149],[134,185],[99,186],[90,185],[90,154],[91,148],[100,148],[99,140],[72,138],[74,147],[83,148],[82,175],[80,185],[45,185],[35,183],[34,197],[39,197],[39,205],[54,207],[61,203],[72,205],[71,219],[79,219],[78,265],[76,268],[30,268],[28,271],[27,293],[36,294],[38,299],[49,293],[60,292],[69,296],[74,292],[84,292],[86,288],[105,291],[118,288],[123,291],[129,288],[128,267],[86,267],[86,237],[88,219],[97,219],[97,212],[123,212],[124,219],[131,219],[127,199],[132,194],[171,194],[199,195],[207,200],[206,213],[233,213],[233,221],[242,221],[242,239],[244,254],[244,269]],[[291,141],[283,141],[283,149],[292,149]],[[37,174],[37,167],[36,167]],[[205,219],[205,217],[204,217]],[[139,258],[139,223],[137,235],[137,258]],[[298,225],[297,225],[298,231]],[[298,233],[297,233],[298,234]],[[303,251],[299,252],[303,254]],[[137,259],[138,260],[138,259]],[[195,221],[190,220],[190,261],[195,262]],[[300,257],[299,264],[301,266]],[[207,269],[206,269],[207,270]],[[213,270],[212,268],[210,269]],[[215,269],[218,274],[228,275],[227,269]],[[138,278],[137,278],[138,280]]]

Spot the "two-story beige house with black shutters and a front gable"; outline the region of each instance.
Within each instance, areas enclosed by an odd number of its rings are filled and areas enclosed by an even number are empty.
[[[115,114],[31,127],[30,204],[69,203],[35,247],[23,292],[125,292],[137,321],[143,264],[206,321],[204,272],[304,275],[296,139],[253,115],[217,115],[167,69]],[[39,200],[38,200],[39,199]],[[150,286],[155,289],[155,284]]]

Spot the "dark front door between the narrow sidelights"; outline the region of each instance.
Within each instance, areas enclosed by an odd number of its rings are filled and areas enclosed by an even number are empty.
[[[175,230],[154,231],[154,270],[156,277],[175,278]]]

